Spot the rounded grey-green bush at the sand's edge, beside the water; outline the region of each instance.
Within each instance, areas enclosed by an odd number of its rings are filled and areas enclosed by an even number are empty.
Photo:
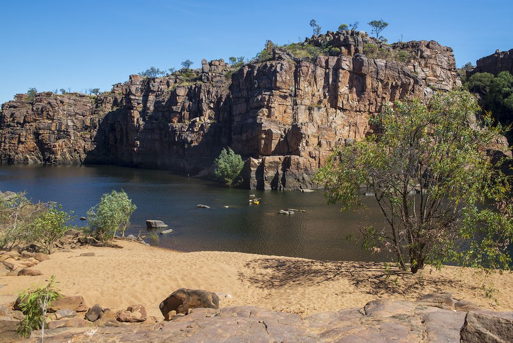
[[[100,202],[89,209],[87,220],[98,239],[109,240],[116,236],[118,230],[125,237],[130,216],[136,208],[123,189],[121,192],[112,190],[102,195]]]

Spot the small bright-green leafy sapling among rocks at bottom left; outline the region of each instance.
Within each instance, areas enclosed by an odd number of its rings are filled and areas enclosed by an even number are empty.
[[[58,290],[54,288],[55,276],[50,278],[50,282],[45,287],[28,289],[19,294],[22,302],[19,304],[23,314],[23,320],[19,322],[17,333],[23,337],[30,337],[34,329],[41,328],[41,340],[45,336],[45,315],[48,305],[55,299],[61,297]]]

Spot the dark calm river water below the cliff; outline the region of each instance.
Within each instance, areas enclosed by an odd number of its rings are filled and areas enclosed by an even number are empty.
[[[127,234],[137,235],[140,230],[144,234],[146,219],[163,220],[174,232],[160,235],[162,247],[321,260],[383,260],[346,240],[349,234],[358,237],[358,225],[371,223],[369,214],[376,220],[380,218],[371,199],[365,213],[341,213],[339,206],[326,204],[322,190],[300,193],[229,189],[161,170],[114,166],[0,166],[0,190],[26,190],[29,198],[55,201],[78,217],[85,216],[102,194],[122,188],[137,206]],[[259,205],[249,204],[250,194],[262,198]],[[211,208],[197,208],[197,204]],[[287,208],[307,212],[278,214]]]

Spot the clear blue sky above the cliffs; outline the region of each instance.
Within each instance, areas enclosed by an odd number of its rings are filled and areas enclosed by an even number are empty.
[[[311,36],[383,18],[389,43],[436,40],[456,63],[475,64],[513,48],[512,0],[431,1],[24,1],[0,0],[0,103],[15,93],[71,88],[110,90],[151,66],[181,68],[190,59],[252,58],[266,40]]]

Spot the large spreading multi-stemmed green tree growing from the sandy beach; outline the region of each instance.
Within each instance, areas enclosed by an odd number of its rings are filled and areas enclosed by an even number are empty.
[[[509,269],[513,201],[508,177],[486,155],[501,134],[466,91],[396,102],[372,120],[377,134],[334,151],[316,176],[330,202],[362,206],[367,185],[383,221],[363,227],[363,246],[412,273],[426,263]],[[483,128],[485,127],[485,128]]]

